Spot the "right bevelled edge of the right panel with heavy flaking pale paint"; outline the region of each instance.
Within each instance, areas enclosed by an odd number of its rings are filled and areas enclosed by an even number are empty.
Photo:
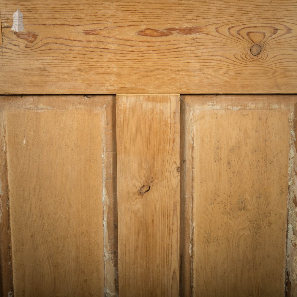
[[[288,169],[288,212],[287,212],[287,252],[285,270],[285,296],[297,296],[297,103],[290,115],[289,169]]]

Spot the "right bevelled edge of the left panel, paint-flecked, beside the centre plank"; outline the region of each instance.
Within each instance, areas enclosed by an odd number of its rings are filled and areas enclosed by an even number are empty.
[[[103,226],[104,226],[104,294],[119,295],[118,231],[117,231],[117,175],[116,175],[116,102],[114,98],[103,110],[102,168],[103,172]]]

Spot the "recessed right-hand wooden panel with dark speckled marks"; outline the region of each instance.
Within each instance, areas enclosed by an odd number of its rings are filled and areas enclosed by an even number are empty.
[[[182,171],[181,238],[190,257],[181,279],[192,280],[181,296],[284,296],[296,96],[182,99],[190,124],[181,134],[191,150]]]

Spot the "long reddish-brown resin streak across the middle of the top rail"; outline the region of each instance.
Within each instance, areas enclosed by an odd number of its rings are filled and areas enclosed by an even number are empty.
[[[202,27],[180,27],[180,28],[166,28],[163,30],[157,29],[143,29],[137,34],[146,37],[164,37],[170,36],[173,34],[182,34],[182,35],[193,35],[193,34],[203,34],[204,31]]]

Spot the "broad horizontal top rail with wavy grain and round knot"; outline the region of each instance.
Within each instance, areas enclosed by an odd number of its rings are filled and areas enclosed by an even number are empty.
[[[0,11],[0,94],[297,92],[296,1],[2,0]]]

